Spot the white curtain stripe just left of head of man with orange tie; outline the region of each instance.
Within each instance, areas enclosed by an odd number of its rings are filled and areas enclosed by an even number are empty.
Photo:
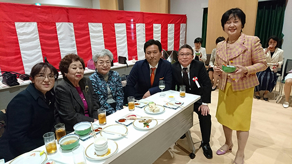
[[[137,55],[138,60],[144,60],[145,23],[136,23]]]

